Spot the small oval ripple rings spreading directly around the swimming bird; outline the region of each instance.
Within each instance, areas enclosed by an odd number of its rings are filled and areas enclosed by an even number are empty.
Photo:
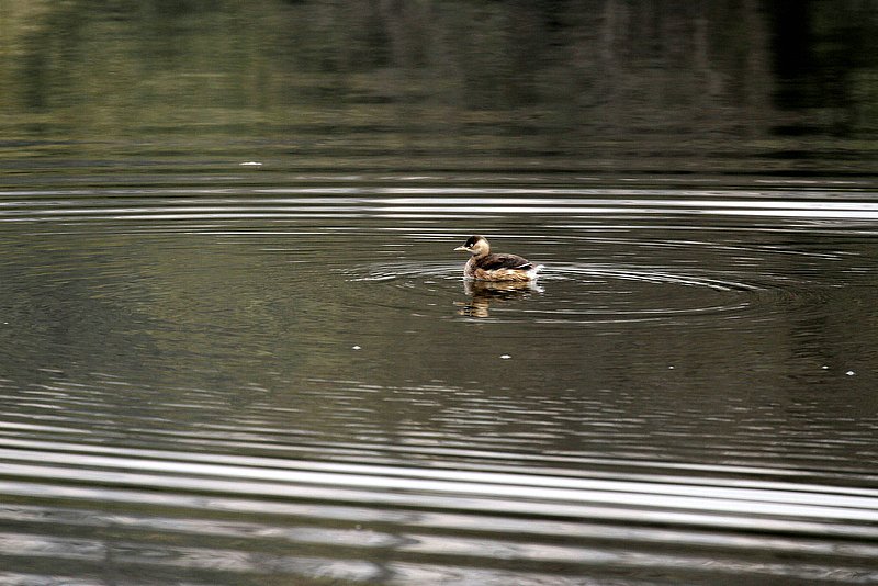
[[[517,309],[504,306],[505,318],[517,315],[559,322],[661,320],[696,315],[740,318],[777,305],[807,306],[819,296],[813,288],[789,280],[622,262],[551,262],[533,284],[526,286],[466,282],[461,278],[461,264],[447,262],[373,262],[341,272],[350,282],[403,290],[409,302],[432,295],[437,289],[463,291],[471,298],[471,307],[539,293]],[[363,300],[374,294],[363,290]],[[357,304],[358,300],[350,298],[349,303]]]

